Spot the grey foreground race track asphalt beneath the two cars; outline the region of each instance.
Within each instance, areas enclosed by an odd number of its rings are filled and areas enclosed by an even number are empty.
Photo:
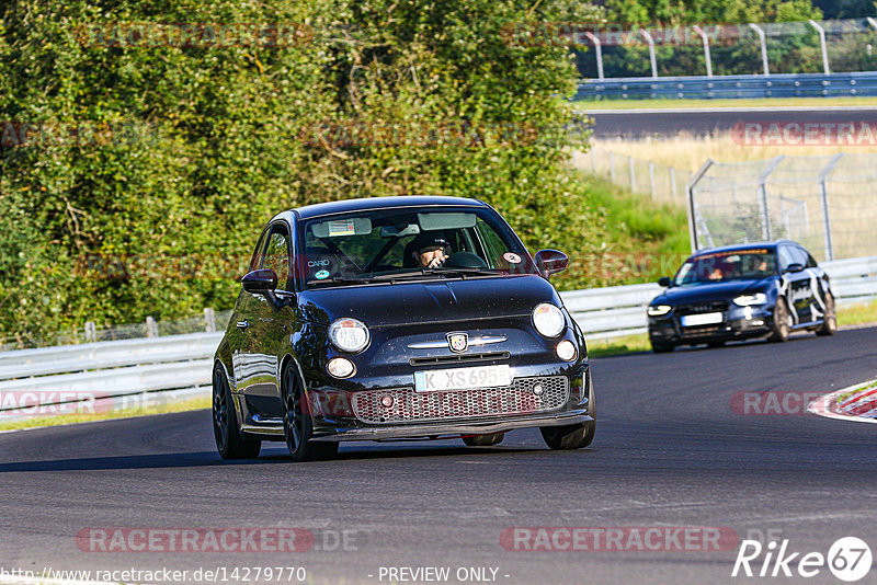
[[[338,460],[296,464],[271,444],[226,462],[208,411],[0,434],[0,569],[304,566],[310,583],[335,584],[388,583],[380,566],[447,566],[449,583],[472,566],[509,584],[804,581],[732,578],[737,540],[707,552],[533,552],[503,548],[511,527],[726,527],[823,554],[856,536],[877,552],[877,425],[732,406],[739,392],[877,378],[877,329],[592,367],[597,434],[578,451],[550,451],[526,429],[492,448],[348,444]],[[76,535],[101,527],[298,527],[317,540],[298,553],[81,550]],[[346,550],[326,550],[342,531]],[[840,583],[825,569],[806,582]]]

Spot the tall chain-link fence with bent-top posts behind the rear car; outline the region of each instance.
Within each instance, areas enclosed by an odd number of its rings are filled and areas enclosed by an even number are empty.
[[[820,261],[877,255],[877,154],[709,160],[690,214],[695,249],[788,238]]]

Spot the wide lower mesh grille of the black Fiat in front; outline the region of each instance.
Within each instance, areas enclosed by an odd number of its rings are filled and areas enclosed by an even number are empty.
[[[540,383],[543,393],[533,393]],[[390,408],[380,399],[394,398]],[[447,392],[415,392],[413,388],[368,390],[353,394],[353,412],[364,423],[452,421],[508,414],[531,414],[557,410],[569,400],[566,376],[516,378],[511,386]]]

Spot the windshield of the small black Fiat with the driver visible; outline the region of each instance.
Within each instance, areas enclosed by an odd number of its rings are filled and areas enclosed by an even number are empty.
[[[303,225],[298,269],[307,288],[537,274],[517,237],[491,209],[375,209]]]

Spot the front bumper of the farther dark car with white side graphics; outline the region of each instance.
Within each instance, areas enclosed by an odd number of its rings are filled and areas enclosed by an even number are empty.
[[[773,326],[773,306],[731,306],[722,312],[722,321],[708,325],[683,326],[682,316],[670,311],[649,317],[649,337],[657,343],[697,344],[710,341],[733,341],[761,337]]]

